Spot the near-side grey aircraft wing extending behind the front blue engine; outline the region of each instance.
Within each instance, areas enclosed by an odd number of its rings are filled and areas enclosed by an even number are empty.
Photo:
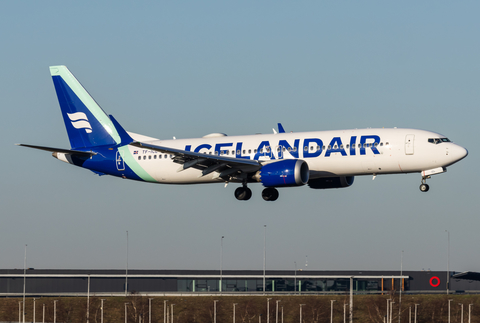
[[[262,164],[256,160],[207,155],[138,141],[132,142],[130,145],[173,155],[173,161],[182,165],[177,172],[195,168],[202,171],[200,177],[216,171],[219,173],[219,177],[243,178],[247,173],[256,172],[262,168]]]

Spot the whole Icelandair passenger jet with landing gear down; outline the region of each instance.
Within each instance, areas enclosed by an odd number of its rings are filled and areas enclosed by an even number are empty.
[[[70,149],[17,144],[98,175],[163,184],[240,183],[237,200],[252,197],[248,184],[262,183],[262,198],[277,200],[277,188],[349,187],[355,176],[420,173],[427,179],[468,155],[447,137],[425,130],[368,128],[160,140],[126,131],[107,115],[66,66],[50,73],[70,140]]]

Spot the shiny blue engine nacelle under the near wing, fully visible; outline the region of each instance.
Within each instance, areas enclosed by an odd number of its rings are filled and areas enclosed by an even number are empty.
[[[308,164],[301,159],[285,159],[266,164],[253,178],[265,187],[301,186],[308,183]]]

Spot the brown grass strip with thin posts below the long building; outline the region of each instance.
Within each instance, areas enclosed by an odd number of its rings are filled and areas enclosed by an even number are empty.
[[[128,297],[106,297],[104,301],[103,322],[125,322],[125,303],[127,304],[127,322],[149,322],[149,297],[131,295]],[[164,321],[164,300],[168,300],[168,308],[173,305],[174,323],[207,323],[214,321],[214,300],[218,300],[217,322],[233,322],[233,304],[235,306],[235,322],[267,322],[267,298],[269,301],[269,322],[276,320],[276,301],[280,300],[278,322],[300,322],[300,304],[302,306],[302,322],[330,322],[331,300],[333,303],[333,322],[343,322],[344,304],[349,296],[189,296],[189,297],[153,297],[151,301],[151,322]],[[359,295],[354,296],[354,322],[384,322],[387,311],[387,299],[392,298],[393,320],[399,321],[399,295]],[[473,304],[471,322],[480,322],[480,295],[402,295],[401,321],[409,322],[411,308],[414,322],[414,307],[418,305],[417,322],[448,322],[448,299],[451,301],[451,322],[461,322],[461,306],[463,305],[464,322],[468,322],[469,304]],[[56,322],[86,322],[87,299],[83,297],[37,298],[35,321],[43,320],[43,304],[45,304],[45,322],[53,322],[54,300],[57,300]],[[22,298],[0,299],[0,321],[18,322],[19,302]],[[90,297],[90,323],[101,322],[101,301],[99,297]],[[33,320],[33,299],[27,298],[25,322]],[[347,322],[348,322],[348,306]],[[169,311],[170,312],[170,311]],[[169,313],[171,314],[171,313]],[[171,316],[170,316],[171,323]]]

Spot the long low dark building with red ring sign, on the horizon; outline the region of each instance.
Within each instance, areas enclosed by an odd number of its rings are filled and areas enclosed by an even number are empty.
[[[480,282],[454,277],[449,280],[450,293],[480,293]],[[126,279],[127,278],[127,279]],[[352,280],[351,280],[352,279]],[[46,270],[29,269],[26,273],[26,293],[35,295],[121,295],[238,293],[258,294],[330,294],[350,291],[355,294],[445,293],[445,271],[292,271],[292,270]],[[265,283],[264,283],[265,281]],[[221,288],[220,288],[221,286]],[[0,296],[23,293],[23,269],[0,270]]]

